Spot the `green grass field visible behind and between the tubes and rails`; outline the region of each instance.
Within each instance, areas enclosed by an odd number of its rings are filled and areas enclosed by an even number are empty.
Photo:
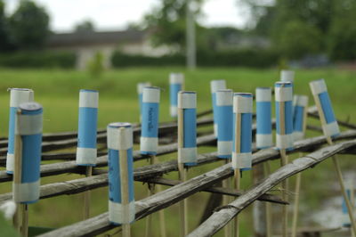
[[[0,135],[7,135],[9,87],[28,87],[35,90],[36,102],[44,106],[44,132],[59,132],[77,130],[77,106],[78,91],[81,88],[97,89],[100,91],[99,127],[106,127],[109,122],[128,121],[138,122],[139,110],[136,94],[136,84],[142,81],[150,81],[154,86],[164,89],[161,98],[160,121],[170,120],[168,116],[168,74],[171,71],[182,71],[186,78],[186,90],[194,90],[198,93],[198,111],[211,107],[209,81],[224,78],[229,88],[235,92],[254,93],[256,86],[273,86],[278,80],[277,69],[197,69],[185,71],[180,68],[139,68],[119,69],[105,72],[101,78],[91,78],[86,72],[72,70],[28,70],[28,69],[0,69],[0,118],[2,126]],[[336,117],[349,119],[356,123],[356,110],[354,96],[356,80],[353,71],[337,69],[296,70],[295,93],[310,95],[310,104],[313,103],[308,82],[312,79],[325,78],[328,90],[333,102]],[[310,122],[319,124],[315,120]],[[308,133],[308,135],[317,135]],[[199,148],[199,153],[214,151],[214,148]],[[175,154],[166,155],[161,160],[176,159]],[[351,157],[344,156],[343,168],[351,169],[355,166]],[[145,160],[136,162],[135,167],[146,165]],[[271,162],[272,168],[278,168],[278,161]],[[190,176],[197,176],[203,172],[216,168],[221,164],[210,164],[193,168]],[[4,168],[0,168],[4,169]],[[75,175],[62,175],[45,177],[42,184],[77,178]],[[168,178],[176,178],[176,174],[167,175]],[[244,175],[244,188],[250,185],[250,175]],[[330,195],[326,181],[336,180],[335,172],[329,160],[320,164],[318,168],[308,170],[303,175],[304,182],[302,201],[309,209],[321,208],[323,197]],[[293,178],[291,179],[293,184]],[[135,184],[136,200],[145,197],[147,187],[142,183]],[[0,193],[10,192],[10,184],[0,184]],[[107,189],[100,188],[92,192],[92,216],[107,211]],[[190,229],[198,225],[199,218],[205,207],[208,194],[200,192],[190,198]],[[30,206],[29,225],[60,227],[77,222],[81,219],[82,196],[61,196],[53,199],[40,200]],[[79,207],[79,208],[78,208]],[[179,224],[178,208],[174,205],[166,208],[168,236],[177,235]],[[306,215],[304,213],[304,215]],[[303,216],[302,216],[303,217]],[[154,216],[158,222],[158,216]],[[302,220],[303,222],[303,220]],[[144,220],[133,225],[134,236],[142,236],[144,232]],[[155,228],[158,235],[158,225]],[[241,236],[250,236],[253,232],[251,208],[247,208],[241,215]],[[222,233],[217,236],[223,236]]]

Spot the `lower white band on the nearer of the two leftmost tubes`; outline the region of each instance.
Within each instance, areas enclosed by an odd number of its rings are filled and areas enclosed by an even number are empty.
[[[34,201],[39,199],[40,180],[32,183],[12,184],[13,200],[15,202]]]

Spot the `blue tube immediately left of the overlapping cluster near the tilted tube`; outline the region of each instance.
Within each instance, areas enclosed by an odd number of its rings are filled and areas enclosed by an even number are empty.
[[[257,87],[255,90],[257,124],[255,142],[257,149],[265,149],[273,145],[271,121],[271,94],[271,87]]]

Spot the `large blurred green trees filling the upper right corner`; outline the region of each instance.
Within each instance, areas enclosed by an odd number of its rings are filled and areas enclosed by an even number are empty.
[[[356,54],[344,50],[346,45],[353,47],[355,38],[355,0],[237,1],[249,6],[255,33],[271,37],[283,57],[294,59],[303,57],[303,53],[328,52],[334,59],[347,59]]]

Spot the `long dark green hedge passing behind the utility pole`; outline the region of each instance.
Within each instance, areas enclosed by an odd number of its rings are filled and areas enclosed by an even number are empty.
[[[184,66],[185,56],[182,54],[150,57],[128,55],[116,52],[112,57],[114,68],[131,66]],[[199,67],[251,67],[266,68],[277,65],[278,54],[264,49],[240,49],[229,52],[198,51]]]

